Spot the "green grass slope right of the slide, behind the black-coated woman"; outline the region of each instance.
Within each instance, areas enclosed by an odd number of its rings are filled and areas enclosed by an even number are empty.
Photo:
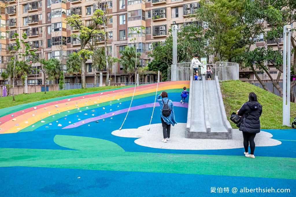
[[[282,129],[290,128],[282,126],[283,120],[283,99],[267,92],[264,89],[241,81],[226,81],[221,83],[221,92],[227,118],[232,112],[236,112],[243,103],[248,101],[249,93],[255,92],[257,100],[262,105],[260,117],[261,129]],[[290,102],[290,116],[292,122],[296,116],[296,105]],[[237,128],[234,123],[232,128]]]

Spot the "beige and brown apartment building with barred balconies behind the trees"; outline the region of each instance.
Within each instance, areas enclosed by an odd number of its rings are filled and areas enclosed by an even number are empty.
[[[1,40],[1,46],[3,45],[1,56],[7,57],[8,60],[9,49],[12,50],[15,45],[15,38],[13,38],[15,32],[20,35],[27,33],[28,38],[25,42],[30,44],[31,50],[37,50],[37,56],[34,58],[58,58],[62,61],[64,72],[66,72],[65,60],[67,56],[80,50],[80,40],[71,37],[71,34],[79,34],[79,31],[67,25],[66,17],[78,14],[81,16],[81,20],[87,24],[94,11],[99,7],[99,1],[95,0],[8,0],[6,2],[6,6],[2,3],[2,8],[5,9],[1,9],[3,15],[1,25],[6,19],[6,30],[2,31],[1,29],[1,32],[8,30],[9,33],[7,33],[6,39]],[[141,52],[141,65],[146,66],[150,62],[147,54],[151,51],[152,43],[161,44],[168,36],[168,30],[173,23],[179,27],[186,25],[188,14],[194,13],[199,4],[197,0],[112,0],[108,6],[110,8],[109,14],[112,16],[107,27],[109,55],[120,58],[120,50],[123,50],[127,45],[133,46],[134,43],[130,41],[131,33],[138,33],[132,32],[131,27],[138,27],[141,32],[139,35],[135,35],[139,41],[137,51]],[[145,30],[140,27],[145,27]],[[99,40],[99,44],[103,46],[104,40]],[[29,55],[23,57],[24,60],[31,60],[31,58]],[[1,68],[4,71],[5,64],[1,64]],[[97,72],[97,75],[101,72],[93,70],[91,60],[86,62],[85,70],[86,83],[94,83],[94,72]],[[103,76],[106,76],[106,72],[104,69]],[[128,74],[123,73],[123,68],[119,63],[113,66],[110,74],[112,82],[127,82],[129,78]],[[28,73],[28,84],[43,84],[43,80],[40,64],[33,61]],[[156,80],[157,74],[145,73],[145,82]],[[65,73],[65,82],[80,83],[81,81],[80,77],[76,82],[75,76]],[[0,78],[0,83],[5,82]],[[47,83],[51,82],[47,81]],[[16,80],[15,84],[22,84],[21,79]]]

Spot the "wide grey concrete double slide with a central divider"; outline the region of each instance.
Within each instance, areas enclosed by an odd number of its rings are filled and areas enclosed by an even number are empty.
[[[232,139],[218,77],[190,80],[186,138]]]

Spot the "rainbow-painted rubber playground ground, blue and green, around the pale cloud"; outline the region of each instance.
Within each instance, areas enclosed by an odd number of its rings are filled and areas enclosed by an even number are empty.
[[[156,86],[136,87],[123,129],[149,125]],[[184,86],[189,88],[189,82],[158,85],[158,92],[167,91],[173,101],[178,123],[187,118],[188,100],[180,103]],[[240,193],[244,187],[286,188],[289,193],[268,195],[296,195],[295,130],[264,130],[281,144],[256,147],[255,159],[243,157],[242,148],[140,146],[137,138],[111,134],[123,123],[133,91],[113,89],[1,109],[1,196],[266,196]],[[151,124],[156,123],[159,107]]]

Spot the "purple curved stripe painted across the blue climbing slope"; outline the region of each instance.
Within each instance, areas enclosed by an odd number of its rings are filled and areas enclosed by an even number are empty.
[[[154,105],[154,103],[138,105],[138,106],[135,106],[135,107],[131,107],[130,111],[144,109],[144,108],[152,108],[153,105]],[[188,108],[188,102],[185,102],[184,104],[182,104],[181,102],[173,102],[173,105],[175,107]],[[155,103],[155,107],[159,107],[158,102]],[[109,118],[109,117],[113,116],[112,115],[113,113],[114,113],[114,115],[118,115],[118,114],[121,114],[121,113],[125,113],[127,111],[128,111],[128,108],[125,108],[125,109],[122,109],[122,110],[119,110],[119,111],[114,111],[114,112],[102,114],[102,115],[99,115],[99,116],[96,116],[96,117],[93,117],[93,118],[87,118],[87,119],[84,119],[82,121],[76,122],[75,125],[71,124],[71,125],[65,126],[64,128],[75,128],[75,127],[81,126],[81,125],[86,124],[86,123],[90,123],[90,122],[93,122],[93,121],[98,121],[98,120],[101,120],[101,119],[104,119],[104,118]],[[84,122],[84,123],[82,123],[82,122]],[[64,129],[64,128],[62,128],[62,129]]]

